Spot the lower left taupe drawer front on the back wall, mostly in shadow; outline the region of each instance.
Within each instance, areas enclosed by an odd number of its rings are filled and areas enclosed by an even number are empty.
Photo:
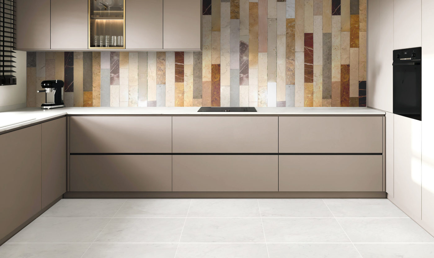
[[[71,155],[71,192],[170,192],[171,155]]]

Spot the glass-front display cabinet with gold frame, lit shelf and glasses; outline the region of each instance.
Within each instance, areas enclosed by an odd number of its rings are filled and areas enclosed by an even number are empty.
[[[125,49],[125,0],[89,0],[89,49]]]

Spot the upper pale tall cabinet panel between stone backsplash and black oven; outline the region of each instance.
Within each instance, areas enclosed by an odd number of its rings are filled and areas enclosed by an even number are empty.
[[[394,0],[368,0],[368,106],[393,112]]]

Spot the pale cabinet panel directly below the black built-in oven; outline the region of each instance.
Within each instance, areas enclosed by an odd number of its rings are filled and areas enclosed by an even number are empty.
[[[394,202],[421,219],[421,121],[394,116]]]

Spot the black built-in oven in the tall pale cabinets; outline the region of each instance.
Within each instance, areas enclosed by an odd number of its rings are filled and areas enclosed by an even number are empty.
[[[393,50],[393,113],[422,120],[422,48]]]

